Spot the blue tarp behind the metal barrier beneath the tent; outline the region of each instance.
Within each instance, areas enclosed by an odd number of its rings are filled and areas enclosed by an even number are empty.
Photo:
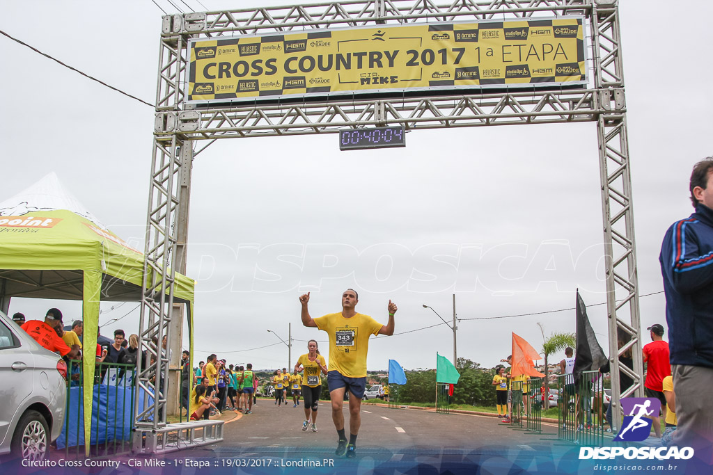
[[[83,389],[71,387],[68,392],[67,412],[57,448],[84,445]],[[139,396],[143,407],[145,392]],[[148,404],[153,404],[153,397]],[[130,441],[133,419],[134,388],[130,386],[95,385],[90,444],[105,444],[114,440]]]

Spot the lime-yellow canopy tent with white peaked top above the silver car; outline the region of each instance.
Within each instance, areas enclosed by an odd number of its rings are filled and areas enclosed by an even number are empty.
[[[11,297],[83,301],[84,440],[91,435],[94,358],[101,301],[141,301],[143,253],[82,209],[51,173],[0,203],[0,306]],[[150,279],[149,279],[150,281]],[[175,303],[186,303],[193,354],[195,282],[176,273]],[[88,452],[87,452],[88,454]]]

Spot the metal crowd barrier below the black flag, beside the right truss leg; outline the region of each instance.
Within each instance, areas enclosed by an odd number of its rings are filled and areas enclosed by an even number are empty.
[[[558,438],[578,445],[602,445],[604,387],[600,372],[582,372],[578,381],[573,375],[561,375],[557,381]]]

